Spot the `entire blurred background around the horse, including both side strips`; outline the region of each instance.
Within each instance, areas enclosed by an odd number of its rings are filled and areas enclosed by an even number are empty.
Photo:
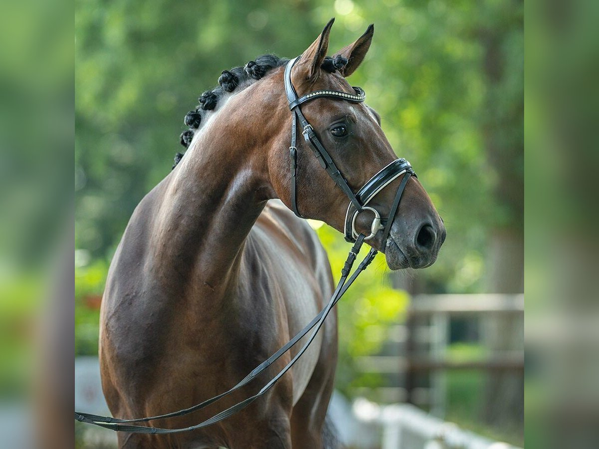
[[[449,229],[434,267],[396,275],[379,260],[339,305],[344,326],[338,390],[349,404],[359,396],[377,404],[420,402],[415,399],[426,399],[426,389],[443,384],[445,377],[443,420],[522,445],[520,418],[514,427],[483,412],[492,397],[488,385],[494,383],[488,378],[493,372],[428,373],[412,399],[405,378],[364,372],[376,360],[360,358],[406,357],[397,326],[410,326],[411,311],[430,298],[421,295],[522,291],[521,280],[512,281],[521,269],[518,258],[509,257],[518,254],[520,219],[512,208],[517,201],[510,199],[518,195],[501,194],[502,189],[511,192],[502,185],[508,180],[516,179],[521,189],[516,148],[523,129],[517,123],[522,8],[505,0],[4,2],[0,447],[72,446],[73,359],[74,354],[77,360],[94,356],[97,298],[111,248],[133,205],[168,172],[180,151],[182,118],[196,96],[216,85],[222,69],[257,54],[295,56],[332,16],[337,17],[332,48],[355,39],[368,23],[376,24],[371,53],[350,81],[367,89],[397,153],[418,168]],[[595,448],[599,2],[531,0],[524,9],[524,442],[528,448]],[[318,232],[336,275],[335,261],[346,246],[326,226]],[[471,324],[476,320],[462,318],[467,323],[450,319],[450,327],[461,330],[448,339],[444,356],[453,365],[480,366],[495,350],[472,330],[480,330],[480,324]],[[430,355],[427,348],[419,349],[420,357]],[[389,371],[405,375],[406,366],[396,362]],[[406,389],[403,398],[401,388]],[[462,410],[452,404],[462,404]],[[500,398],[497,404],[510,403]],[[431,404],[418,407],[440,412]]]

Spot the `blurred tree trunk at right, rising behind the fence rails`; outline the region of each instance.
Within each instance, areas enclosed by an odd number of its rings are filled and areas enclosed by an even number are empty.
[[[495,220],[489,229],[486,290],[524,292],[524,2],[489,1],[474,33],[483,47],[486,84],[482,133],[494,168]],[[524,344],[524,323],[506,316],[485,323],[486,344],[509,351]],[[503,427],[524,423],[524,377],[491,373],[485,420]]]

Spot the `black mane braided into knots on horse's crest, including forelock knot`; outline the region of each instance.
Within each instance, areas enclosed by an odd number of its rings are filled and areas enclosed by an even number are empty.
[[[196,131],[201,128],[202,120],[210,114],[216,113],[221,99],[240,92],[258,80],[261,80],[272,69],[284,66],[289,59],[275,56],[274,54],[263,54],[256,57],[255,60],[246,65],[233,67],[229,70],[223,70],[218,79],[219,86],[207,90],[199,96],[199,105],[193,111],[189,111],[183,119],[185,126],[189,128],[181,133],[179,141],[181,145],[188,148],[193,140]],[[327,72],[334,72],[347,64],[347,59],[337,56],[334,59],[327,56],[322,63],[322,69]],[[184,153],[177,153],[174,157],[173,168],[183,159]]]

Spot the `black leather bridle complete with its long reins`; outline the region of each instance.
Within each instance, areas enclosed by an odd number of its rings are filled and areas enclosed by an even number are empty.
[[[377,254],[377,250],[371,248],[368,251],[368,254],[362,259],[362,262],[359,263],[358,268],[353,272],[350,276],[350,271],[352,266],[356,260],[356,256],[362,247],[364,241],[371,239],[376,235],[379,230],[383,229],[383,245],[386,242],[386,239],[389,235],[389,231],[391,230],[391,223],[395,216],[395,212],[397,211],[401,195],[406,188],[407,181],[409,178],[415,173],[412,169],[412,166],[406,159],[396,159],[391,162],[389,165],[381,169],[377,174],[368,180],[364,186],[358,190],[357,193],[353,193],[352,188],[347,183],[346,179],[343,177],[341,172],[335,166],[331,156],[326,151],[325,147],[323,147],[322,143],[319,141],[316,132],[308,123],[308,120],[302,114],[301,108],[299,105],[304,104],[307,101],[311,101],[316,98],[335,98],[335,99],[343,99],[345,101],[350,101],[353,103],[361,103],[365,99],[364,90],[359,87],[353,87],[355,90],[355,94],[350,94],[346,92],[338,92],[335,90],[319,90],[317,92],[308,93],[301,98],[298,98],[297,92],[295,92],[295,88],[291,82],[291,70],[294,67],[295,63],[299,60],[299,57],[295,57],[290,60],[285,68],[285,92],[287,94],[287,98],[289,100],[289,109],[292,112],[293,122],[291,128],[291,146],[289,147],[289,155],[291,157],[291,204],[294,210],[295,215],[301,218],[301,214],[298,212],[297,207],[297,122],[299,122],[302,126],[302,135],[304,135],[304,139],[308,144],[308,147],[313,151],[314,156],[319,160],[320,166],[326,170],[326,172],[331,176],[331,178],[335,181],[337,186],[343,190],[343,192],[347,195],[350,200],[349,207],[347,207],[346,220],[345,220],[345,238],[349,242],[353,242],[352,249],[347,255],[347,259],[341,269],[341,278],[333,292],[331,299],[328,304],[320,311],[316,317],[314,317],[310,323],[308,323],[304,329],[300,330],[294,338],[292,338],[285,346],[280,348],[276,353],[272,356],[268,357],[267,360],[264,360],[260,365],[256,366],[255,369],[252,370],[246,377],[243,378],[237,385],[229,389],[228,391],[221,393],[220,395],[214,396],[214,398],[207,399],[200,404],[193,405],[189,408],[185,408],[176,412],[170,412],[163,415],[156,415],[144,418],[135,418],[135,419],[120,419],[113,418],[110,416],[100,416],[95,414],[90,414],[86,412],[77,412],[75,411],[75,420],[81,421],[88,424],[93,424],[95,426],[104,427],[106,429],[115,430],[117,432],[127,432],[127,433],[151,433],[151,434],[164,434],[164,433],[180,433],[180,432],[190,432],[192,430],[202,429],[204,427],[211,426],[219,421],[228,418],[229,416],[241,411],[241,409],[246,408],[248,405],[252,404],[256,399],[264,395],[268,392],[268,390],[273,387],[273,385],[285,375],[286,372],[291,369],[291,367],[297,362],[299,357],[304,354],[307,348],[310,346],[311,342],[316,338],[316,334],[322,327],[327,315],[332,310],[335,304],[341,299],[344,293],[349,289],[352,285],[353,281],[356,280],[358,275],[364,271],[368,265],[373,261],[374,256]],[[397,189],[397,193],[395,194],[395,199],[391,206],[391,211],[387,219],[383,222],[380,217],[380,213],[373,207],[368,206],[368,202],[374,198],[382,189],[388,186],[389,183],[400,177],[400,175],[405,174],[403,179],[401,180],[400,186]],[[365,236],[362,233],[358,233],[355,229],[356,217],[362,211],[371,211],[374,213],[374,219],[371,224],[370,235]],[[164,418],[173,418],[178,416],[183,416],[195,412],[199,409],[205,408],[210,404],[218,401],[219,399],[224,398],[225,396],[230,395],[231,393],[237,391],[241,387],[250,383],[256,377],[258,377],[262,372],[264,372],[270,365],[272,365],[276,360],[279,359],[283,354],[289,351],[302,337],[304,337],[311,329],[313,332],[308,337],[308,341],[299,349],[298,353],[292,357],[291,361],[285,365],[279,373],[274,376],[268,383],[262,387],[258,393],[253,396],[250,396],[244,401],[238,402],[235,405],[223,410],[222,412],[214,415],[211,418],[208,418],[205,421],[202,421],[199,424],[195,424],[194,426],[189,427],[181,427],[180,429],[163,429],[161,427],[149,427],[149,426],[133,426],[131,423],[147,423],[152,420],[159,420]]]

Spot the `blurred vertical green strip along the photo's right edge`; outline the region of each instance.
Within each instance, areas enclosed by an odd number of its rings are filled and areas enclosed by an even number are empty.
[[[599,447],[598,22],[527,4],[527,448]]]

